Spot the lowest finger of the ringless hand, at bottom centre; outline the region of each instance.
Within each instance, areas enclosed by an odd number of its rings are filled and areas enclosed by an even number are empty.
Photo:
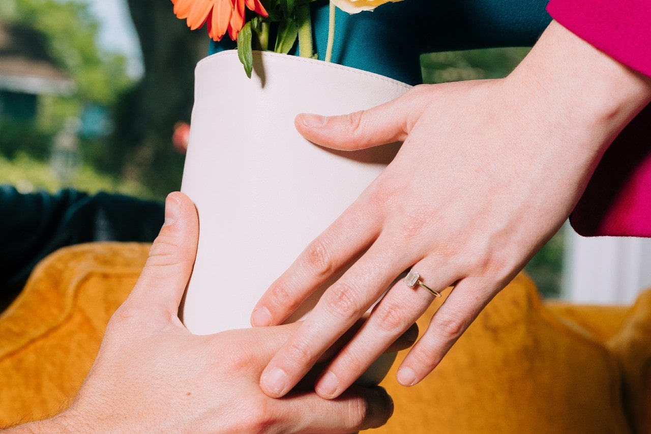
[[[393,400],[380,386],[353,386],[330,400],[313,392],[292,392],[270,406],[271,417],[287,421],[279,425],[283,433],[352,433],[380,427],[393,414]]]

